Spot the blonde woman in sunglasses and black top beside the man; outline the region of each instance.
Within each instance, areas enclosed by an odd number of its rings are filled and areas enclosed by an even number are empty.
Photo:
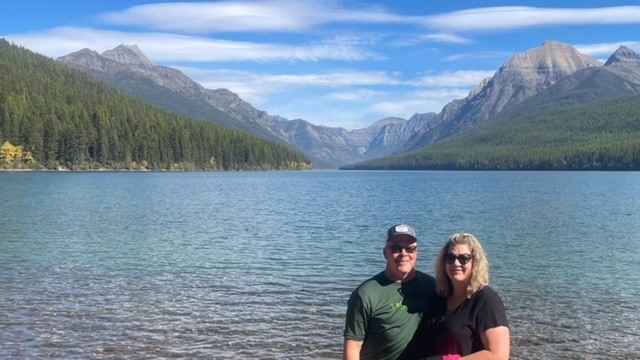
[[[489,287],[489,262],[475,236],[458,233],[447,240],[436,262],[436,291],[447,297],[445,314],[428,335],[438,358],[509,358],[507,315]]]

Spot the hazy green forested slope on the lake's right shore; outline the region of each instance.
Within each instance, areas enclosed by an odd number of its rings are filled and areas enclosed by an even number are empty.
[[[341,169],[640,170],[640,96],[527,109],[415,152]]]

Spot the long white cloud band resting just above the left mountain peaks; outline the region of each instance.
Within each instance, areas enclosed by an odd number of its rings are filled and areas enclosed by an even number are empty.
[[[305,45],[229,41],[169,33],[131,33],[91,28],[57,27],[42,32],[6,35],[30,50],[58,57],[90,46],[104,52],[120,44],[138,45],[154,63],[225,61],[356,61],[379,59],[349,37],[333,37]],[[90,44],[90,45],[89,45]]]

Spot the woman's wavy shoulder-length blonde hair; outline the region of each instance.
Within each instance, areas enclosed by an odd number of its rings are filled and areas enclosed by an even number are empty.
[[[453,293],[451,280],[447,276],[447,270],[445,268],[444,256],[457,245],[467,245],[473,258],[471,282],[467,287],[467,298],[471,298],[476,292],[489,285],[489,261],[480,245],[480,241],[469,233],[452,235],[440,250],[438,260],[436,261],[436,291],[443,296],[449,296]]]

